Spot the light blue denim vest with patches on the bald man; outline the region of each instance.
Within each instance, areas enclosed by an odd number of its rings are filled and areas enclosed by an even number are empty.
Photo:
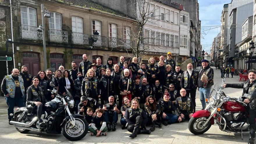
[[[14,98],[15,96],[15,82],[12,77],[12,74],[5,76],[6,77],[6,90],[9,93],[9,96],[11,98]],[[19,86],[22,93],[22,97],[24,96],[25,89],[24,89],[24,81],[22,79],[22,76],[19,76]]]

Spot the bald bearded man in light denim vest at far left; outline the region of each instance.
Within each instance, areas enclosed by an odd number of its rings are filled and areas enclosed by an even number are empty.
[[[19,70],[17,68],[13,69],[12,74],[3,78],[1,90],[8,105],[8,119],[9,125],[11,125],[10,121],[13,117],[10,114],[13,113],[15,103],[18,107],[24,106],[24,82],[22,77],[19,76]]]

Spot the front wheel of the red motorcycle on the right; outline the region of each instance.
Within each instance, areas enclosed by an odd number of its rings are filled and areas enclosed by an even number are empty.
[[[211,127],[211,123],[208,122],[205,127],[203,124],[206,122],[207,117],[193,118],[191,117],[189,120],[189,131],[193,134],[203,134],[209,130]]]

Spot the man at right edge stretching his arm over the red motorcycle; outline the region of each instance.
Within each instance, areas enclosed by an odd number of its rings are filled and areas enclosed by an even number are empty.
[[[255,137],[255,130],[256,130],[256,71],[255,70],[249,70],[248,71],[248,79],[244,83],[225,83],[223,85],[223,88],[243,88],[243,94],[249,94],[252,95],[250,99],[244,99],[244,103],[249,103],[250,110],[249,110],[249,128],[250,128],[250,134],[249,134],[249,141],[248,144],[254,143],[254,137]],[[242,95],[243,95],[242,94]]]

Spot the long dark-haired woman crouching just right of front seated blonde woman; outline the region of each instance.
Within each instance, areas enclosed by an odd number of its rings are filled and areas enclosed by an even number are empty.
[[[145,110],[146,110],[147,118],[149,119],[149,121],[152,121],[150,131],[155,130],[155,125],[158,125],[160,128],[161,127],[161,123],[160,123],[161,119],[159,115],[160,106],[153,95],[150,95],[147,97],[145,102]]]

